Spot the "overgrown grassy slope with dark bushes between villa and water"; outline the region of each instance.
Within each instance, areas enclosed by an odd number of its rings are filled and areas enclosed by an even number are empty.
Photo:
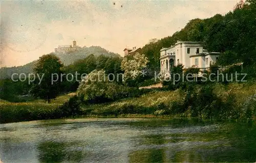
[[[83,105],[87,116],[155,115],[221,119],[255,118],[256,84],[215,83],[188,90],[151,92],[137,98]],[[255,102],[253,100],[255,98]],[[247,101],[247,102],[246,102]]]

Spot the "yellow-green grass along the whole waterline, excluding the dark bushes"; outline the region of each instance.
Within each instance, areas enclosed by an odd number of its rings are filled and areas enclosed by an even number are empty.
[[[250,99],[255,96],[256,84],[244,83],[237,84],[231,83],[228,85],[216,84],[214,86],[215,94],[223,101],[227,100],[228,94],[234,95],[233,101],[231,101],[232,112],[242,117],[245,114],[245,107],[250,106],[251,109],[256,108],[256,100]],[[164,114],[164,110],[172,110],[172,103],[184,98],[184,94],[181,90],[164,91],[155,90],[140,97],[124,98],[113,102],[106,102],[101,104],[84,104],[80,105],[81,114],[70,117],[62,117],[59,107],[67,102],[70,97],[75,93],[69,93],[66,95],[58,96],[51,103],[47,103],[44,100],[33,100],[30,102],[8,102],[5,100],[0,101],[0,115],[1,123],[29,121],[39,119],[58,119],[58,118],[95,118],[95,117],[124,117],[124,118],[172,118],[172,117],[192,117],[189,110],[183,113],[177,114]],[[249,102],[250,105],[245,103]],[[207,107],[207,105],[205,106]],[[254,111],[252,111],[254,112]],[[255,117],[252,114],[251,118]],[[239,117],[239,118],[241,118]],[[202,117],[203,118],[203,117]],[[228,117],[225,117],[228,119]],[[233,118],[233,117],[231,117]],[[238,119],[239,119],[238,118]]]

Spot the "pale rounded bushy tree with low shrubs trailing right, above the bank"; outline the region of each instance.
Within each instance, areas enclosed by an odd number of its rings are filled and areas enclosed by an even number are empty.
[[[94,70],[86,76],[77,90],[78,96],[89,103],[104,103],[128,97],[139,97],[151,90],[139,90],[110,82],[104,70]]]

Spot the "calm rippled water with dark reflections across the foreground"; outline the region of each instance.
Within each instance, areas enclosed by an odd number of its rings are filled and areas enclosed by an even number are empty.
[[[3,162],[255,162],[256,124],[75,119],[0,124]]]

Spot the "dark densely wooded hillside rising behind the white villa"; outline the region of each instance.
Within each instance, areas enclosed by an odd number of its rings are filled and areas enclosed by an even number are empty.
[[[225,16],[217,14],[207,19],[193,19],[172,36],[152,39],[142,48],[150,60],[149,65],[159,70],[160,49],[170,47],[177,41],[204,42],[205,49],[223,53],[221,65],[238,62],[252,65],[256,60],[256,5],[255,1],[248,2],[250,5]]]

